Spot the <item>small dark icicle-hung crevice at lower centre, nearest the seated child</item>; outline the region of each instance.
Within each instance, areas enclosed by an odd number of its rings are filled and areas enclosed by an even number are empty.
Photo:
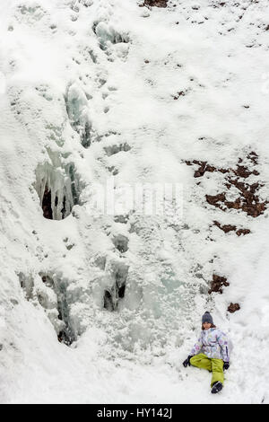
[[[119,301],[125,297],[128,269],[124,262],[112,263],[110,276],[113,283],[104,291],[104,308],[110,312],[117,311]]]

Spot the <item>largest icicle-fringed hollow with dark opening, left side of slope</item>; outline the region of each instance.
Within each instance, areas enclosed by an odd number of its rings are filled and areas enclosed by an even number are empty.
[[[34,187],[39,195],[45,218],[62,220],[79,204],[81,184],[74,163],[61,164],[59,160],[39,164]]]

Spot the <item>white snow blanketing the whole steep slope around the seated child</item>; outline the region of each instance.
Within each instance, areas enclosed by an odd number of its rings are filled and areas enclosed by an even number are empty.
[[[2,0],[2,403],[269,402],[268,211],[209,206],[224,175],[186,163],[234,169],[255,151],[247,182],[268,198],[268,4],[220,3]],[[178,184],[182,215],[135,213],[146,184]],[[233,344],[214,396],[182,365],[204,311]]]

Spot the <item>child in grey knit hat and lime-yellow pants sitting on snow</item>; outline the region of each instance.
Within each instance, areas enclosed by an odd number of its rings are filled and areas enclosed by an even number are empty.
[[[199,353],[202,351],[202,353]],[[221,391],[224,382],[223,369],[228,369],[230,353],[226,335],[213,325],[209,312],[202,317],[202,332],[183,365],[197,366],[212,372],[212,393]]]

